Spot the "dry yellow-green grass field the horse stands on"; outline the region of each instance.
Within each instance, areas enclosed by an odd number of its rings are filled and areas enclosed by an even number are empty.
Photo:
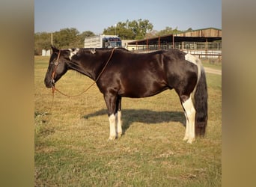
[[[122,99],[124,135],[109,138],[102,93],[52,92],[43,79],[49,58],[34,58],[35,186],[221,186],[222,77],[207,74],[207,135],[182,141],[183,108],[174,91]],[[218,67],[219,68],[219,67]],[[91,79],[69,71],[56,84],[79,93]]]

